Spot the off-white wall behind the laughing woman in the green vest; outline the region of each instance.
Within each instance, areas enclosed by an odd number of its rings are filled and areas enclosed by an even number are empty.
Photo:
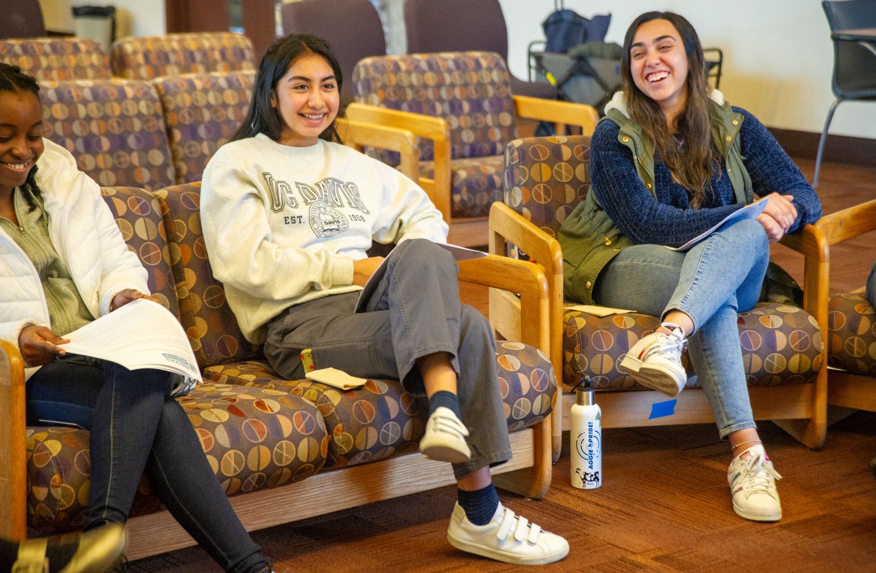
[[[526,44],[544,38],[541,22],[554,3],[500,2],[508,26],[509,65],[522,78]],[[566,7],[586,17],[611,13],[607,40],[618,44],[641,12],[676,11],[696,27],[704,46],[724,50],[721,90],[731,103],[771,127],[818,132],[823,128],[834,99],[833,46],[818,0],[566,0]],[[876,138],[876,103],[843,103],[830,133]]]

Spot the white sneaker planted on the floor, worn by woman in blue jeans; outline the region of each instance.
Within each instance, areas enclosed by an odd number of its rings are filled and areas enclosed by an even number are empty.
[[[733,496],[733,511],[752,521],[781,520],[781,502],[773,469],[763,446],[754,446],[733,458],[727,470],[727,483]]]

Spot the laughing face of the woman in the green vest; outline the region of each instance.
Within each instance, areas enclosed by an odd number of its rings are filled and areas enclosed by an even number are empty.
[[[636,29],[630,48],[632,81],[657,102],[668,120],[687,103],[688,68],[688,55],[675,25],[658,18]]]

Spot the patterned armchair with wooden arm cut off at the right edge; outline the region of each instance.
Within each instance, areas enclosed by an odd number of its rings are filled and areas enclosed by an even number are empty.
[[[876,200],[823,216],[829,244],[876,230]],[[833,294],[828,305],[828,403],[876,412],[876,310],[864,289]]]

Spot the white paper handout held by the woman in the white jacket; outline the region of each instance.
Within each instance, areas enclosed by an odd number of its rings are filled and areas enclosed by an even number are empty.
[[[74,330],[60,347],[122,364],[128,370],[157,368],[201,382],[192,346],[185,330],[170,311],[138,299]]]

